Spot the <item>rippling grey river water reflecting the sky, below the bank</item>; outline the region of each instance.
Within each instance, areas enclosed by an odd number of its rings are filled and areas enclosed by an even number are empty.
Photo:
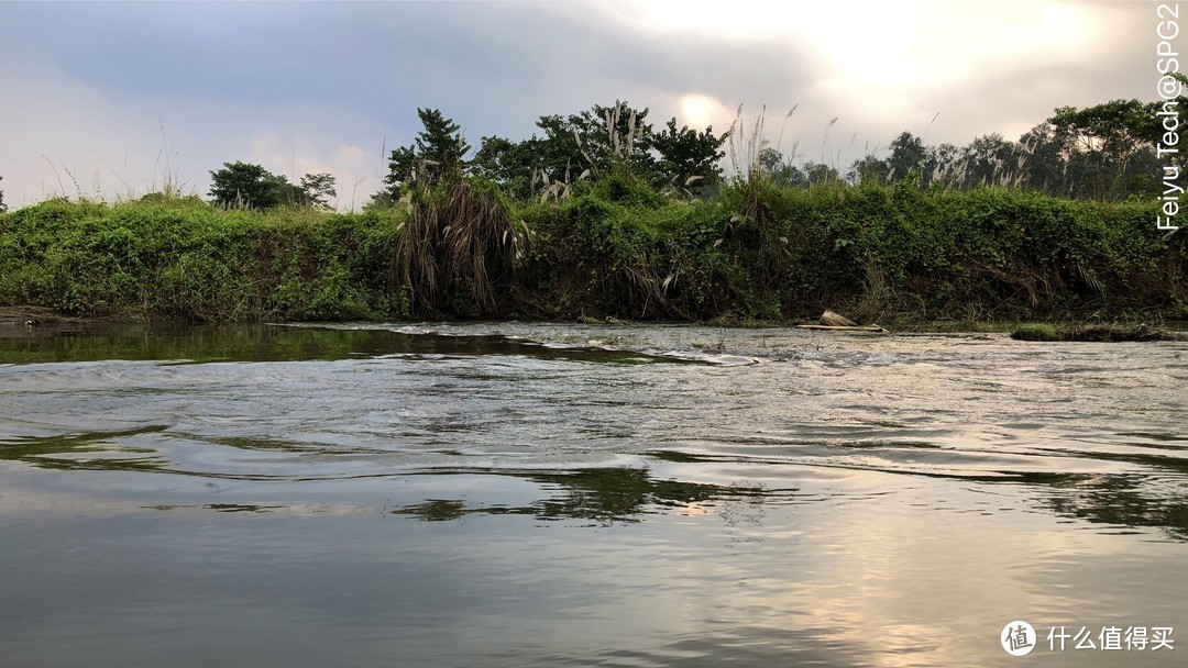
[[[10,327],[0,666],[1183,664],[1186,388],[1184,343]]]

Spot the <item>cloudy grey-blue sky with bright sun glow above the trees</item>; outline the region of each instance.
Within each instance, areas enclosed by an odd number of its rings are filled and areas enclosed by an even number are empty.
[[[1155,100],[1158,6],[0,0],[0,190],[10,208],[207,197],[242,160],[333,173],[337,208],[359,209],[418,107],[479,146],[617,100],[719,134],[765,109],[771,146],[845,171],[904,131],[1017,140],[1056,107]]]

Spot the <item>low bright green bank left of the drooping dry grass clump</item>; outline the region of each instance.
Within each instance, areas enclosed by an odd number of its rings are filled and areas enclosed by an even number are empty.
[[[50,201],[0,216],[0,303],[200,320],[407,314],[385,284],[398,221],[192,199]]]

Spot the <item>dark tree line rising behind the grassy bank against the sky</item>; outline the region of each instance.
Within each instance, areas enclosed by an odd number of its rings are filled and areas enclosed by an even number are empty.
[[[795,149],[785,157],[760,136],[756,173],[789,187],[908,182],[923,189],[1005,186],[1073,198],[1148,197],[1159,191],[1161,165],[1183,163],[1180,154],[1162,160],[1156,154],[1168,132],[1159,110],[1168,106],[1188,110],[1188,100],[1180,95],[1159,102],[1113,100],[1083,109],[1060,107],[1017,141],[992,133],[965,146],[933,146],[902,132],[881,157],[867,153],[848,167],[839,164],[840,152],[833,161],[823,149],[820,163],[797,164]],[[723,178],[722,146],[729,133],[678,127],[676,117],[657,131],[646,107],[636,108],[626,101],[543,115],[529,139],[482,136],[476,149],[467,142],[461,125],[440,109],[416,112],[422,129],[411,144],[390,152],[385,185],[373,204],[397,202],[413,182],[436,187],[480,179],[518,199],[548,199],[612,174],[677,196],[704,196]],[[305,174],[299,184],[291,184],[284,176],[239,161],[210,173],[210,196],[221,205],[328,208],[336,196],[328,173]]]

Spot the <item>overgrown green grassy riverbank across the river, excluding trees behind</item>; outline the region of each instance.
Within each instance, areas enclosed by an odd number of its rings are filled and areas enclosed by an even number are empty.
[[[784,189],[708,201],[611,177],[562,202],[463,184],[361,214],[196,201],[0,215],[0,305],[196,320],[922,322],[1188,318],[1184,235],[1154,203],[986,189]]]

